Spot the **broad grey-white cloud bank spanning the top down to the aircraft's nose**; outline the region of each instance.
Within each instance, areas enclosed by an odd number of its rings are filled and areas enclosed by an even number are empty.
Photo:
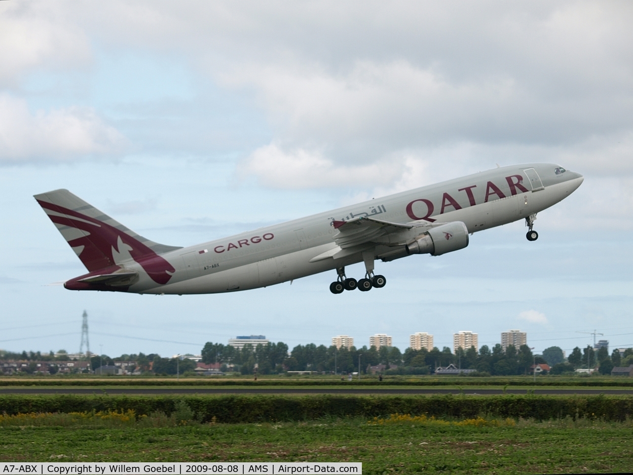
[[[569,168],[633,174],[628,3],[11,5],[0,44],[22,49],[0,48],[7,77],[85,63],[91,44],[177,54],[196,73],[254,96],[272,142],[294,157],[296,174],[316,173],[316,186],[351,167],[374,177],[369,186],[402,189],[415,182],[404,169],[420,163],[424,177],[448,162],[457,176],[556,158]],[[208,134],[200,135],[203,143]],[[463,144],[470,153],[453,153]],[[387,162],[396,163],[392,182],[375,179],[370,168]],[[288,186],[257,166],[250,172]]]

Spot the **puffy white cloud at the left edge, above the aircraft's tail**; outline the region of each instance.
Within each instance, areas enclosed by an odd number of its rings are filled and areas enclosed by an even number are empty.
[[[0,94],[0,163],[75,160],[115,153],[125,147],[116,129],[91,108],[62,108],[30,113],[27,103]]]

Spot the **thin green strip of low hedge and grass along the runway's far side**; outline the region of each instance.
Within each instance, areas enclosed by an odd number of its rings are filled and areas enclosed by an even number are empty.
[[[447,377],[446,379],[361,379],[358,381],[337,381],[327,379],[135,379],[118,377],[91,379],[64,377],[51,379],[30,379],[27,377],[9,377],[0,379],[0,386],[582,386],[582,387],[633,387],[633,378],[574,378],[558,380],[555,377],[539,377],[536,383],[531,378],[497,379],[488,377]]]

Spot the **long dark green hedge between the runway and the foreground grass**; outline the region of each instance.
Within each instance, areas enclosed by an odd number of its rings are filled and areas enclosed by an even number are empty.
[[[389,414],[436,417],[524,417],[539,421],[570,416],[624,421],[633,412],[633,396],[81,396],[2,395],[0,412],[90,412],[134,409],[139,415],[170,415],[184,401],[203,422],[305,421],[322,417],[367,417]]]

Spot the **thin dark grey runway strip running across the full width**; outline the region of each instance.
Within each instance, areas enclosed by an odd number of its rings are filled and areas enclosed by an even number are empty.
[[[633,389],[481,389],[481,388],[0,388],[1,394],[77,394],[77,395],[501,395],[528,394],[536,395],[633,395]]]

